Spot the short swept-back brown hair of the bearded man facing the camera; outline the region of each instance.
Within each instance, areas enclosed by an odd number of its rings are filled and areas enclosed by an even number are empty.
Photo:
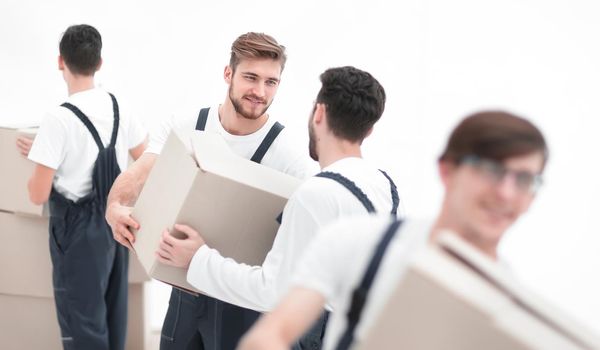
[[[265,33],[248,32],[240,35],[231,44],[229,66],[233,71],[243,59],[270,58],[279,61],[281,70],[285,67],[287,56],[285,46],[280,45],[272,36]]]

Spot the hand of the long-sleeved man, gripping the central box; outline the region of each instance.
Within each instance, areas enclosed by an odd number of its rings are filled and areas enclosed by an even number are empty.
[[[168,230],[164,230],[156,257],[163,264],[188,268],[196,251],[205,244],[204,239],[187,225],[175,224],[175,230],[185,234],[186,237],[175,238]]]

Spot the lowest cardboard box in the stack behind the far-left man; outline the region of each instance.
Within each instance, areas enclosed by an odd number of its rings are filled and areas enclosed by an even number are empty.
[[[145,349],[149,338],[144,303],[144,284],[130,284],[127,350]],[[62,349],[53,298],[0,294],[0,310],[2,349]]]

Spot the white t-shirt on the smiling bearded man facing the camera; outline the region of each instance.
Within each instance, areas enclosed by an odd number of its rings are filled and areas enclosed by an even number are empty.
[[[160,154],[172,129],[184,132],[195,130],[200,109],[196,107],[184,108],[172,118],[163,122],[158,132],[151,134],[146,152]],[[208,111],[204,130],[220,134],[235,154],[250,159],[267,136],[269,130],[271,130],[273,124],[275,124],[275,119],[269,117],[265,125],[252,134],[232,135],[223,128],[219,120],[219,106],[217,105],[212,106]],[[318,166],[316,162],[309,158],[308,147],[306,150],[301,151],[294,147],[293,143],[290,142],[289,132],[287,128],[284,128],[279,133],[260,163],[288,175],[305,179],[313,175]]]

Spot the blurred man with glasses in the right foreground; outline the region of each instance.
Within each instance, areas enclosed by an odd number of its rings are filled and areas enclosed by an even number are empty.
[[[525,119],[500,111],[464,119],[439,159],[445,195],[437,219],[362,217],[325,228],[298,263],[288,294],[257,322],[240,348],[289,347],[326,303],[333,312],[325,348],[352,347],[385,307],[412,254],[441,231],[454,232],[497,260],[502,235],[535,197],[547,157],[544,137]],[[385,255],[370,288],[359,289],[375,247],[387,250],[377,250]]]

